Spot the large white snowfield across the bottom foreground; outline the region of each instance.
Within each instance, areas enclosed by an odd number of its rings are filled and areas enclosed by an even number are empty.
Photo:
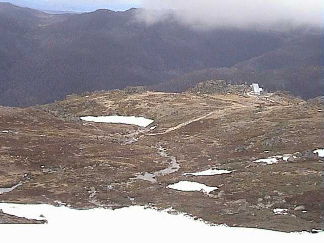
[[[0,204],[7,214],[44,219],[45,225],[0,225],[2,242],[322,242],[324,233],[283,233],[211,226],[184,215],[135,206],[73,210],[50,205]]]

